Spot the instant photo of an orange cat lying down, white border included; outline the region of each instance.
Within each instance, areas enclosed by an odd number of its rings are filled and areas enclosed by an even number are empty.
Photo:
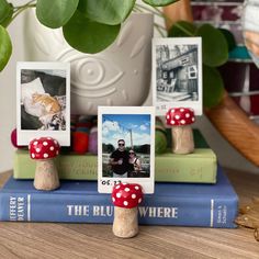
[[[53,137],[70,145],[70,64],[18,63],[18,145]]]

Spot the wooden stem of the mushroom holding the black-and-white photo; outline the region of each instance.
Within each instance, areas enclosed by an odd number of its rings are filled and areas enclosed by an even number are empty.
[[[193,133],[190,125],[172,126],[172,153],[190,154],[194,150]]]

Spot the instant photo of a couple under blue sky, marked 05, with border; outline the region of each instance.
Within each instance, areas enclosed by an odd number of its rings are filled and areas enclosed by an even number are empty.
[[[138,183],[154,193],[155,108],[99,106],[98,191],[114,184]]]

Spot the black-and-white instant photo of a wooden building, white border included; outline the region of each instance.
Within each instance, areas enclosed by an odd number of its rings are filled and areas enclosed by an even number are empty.
[[[179,106],[202,115],[201,37],[153,40],[153,104],[156,115]]]

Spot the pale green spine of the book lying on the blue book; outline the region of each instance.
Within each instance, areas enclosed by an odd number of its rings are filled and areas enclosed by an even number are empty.
[[[56,166],[60,179],[97,180],[98,157],[93,155],[59,155]],[[165,182],[215,183],[216,156],[210,148],[198,148],[190,155],[166,153],[155,158],[155,180]],[[33,179],[35,160],[27,150],[14,154],[14,178]]]

